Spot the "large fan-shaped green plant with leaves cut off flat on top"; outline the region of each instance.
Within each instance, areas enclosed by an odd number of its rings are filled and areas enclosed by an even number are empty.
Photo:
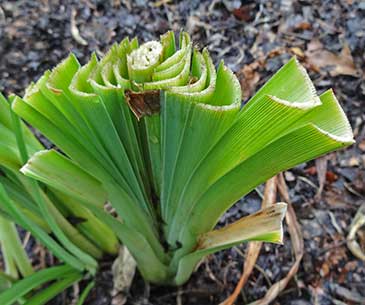
[[[71,54],[12,108],[63,152],[37,152],[21,171],[112,227],[155,283],[182,284],[202,257],[243,241],[281,242],[282,203],[214,227],[266,179],[353,143],[332,91],[317,96],[296,59],[241,107],[236,77],[186,33],[178,49],[168,32],[84,66]]]

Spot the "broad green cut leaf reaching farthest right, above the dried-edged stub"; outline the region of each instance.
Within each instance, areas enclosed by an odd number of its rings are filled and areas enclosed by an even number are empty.
[[[186,228],[194,235],[210,230],[236,200],[274,174],[352,144],[351,128],[333,97],[331,92],[324,93],[322,105],[316,112],[318,116],[309,120],[311,116],[308,115],[308,120],[298,121],[301,127],[289,129],[214,183],[197,202],[194,217],[189,219],[190,225]],[[334,117],[338,116],[336,125],[332,127],[328,124],[328,116],[322,116],[329,112]],[[327,130],[321,129],[326,126]],[[206,222],[202,221],[202,215]]]

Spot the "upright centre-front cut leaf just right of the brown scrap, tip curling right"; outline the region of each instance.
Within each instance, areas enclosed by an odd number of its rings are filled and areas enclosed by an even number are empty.
[[[230,73],[223,65],[218,69],[217,75],[218,81],[223,83],[229,90],[222,99],[225,100],[229,106],[212,106],[207,104],[195,104],[186,101],[180,101],[178,97],[174,94],[166,94],[166,99],[162,104],[162,117],[164,119],[164,130],[166,130],[164,137],[165,148],[163,151],[166,156],[164,158],[165,164],[164,169],[166,176],[164,176],[164,181],[170,181],[170,185],[173,189],[166,188],[162,194],[161,200],[162,205],[168,205],[166,209],[170,211],[170,215],[166,215],[166,220],[169,226],[168,240],[170,243],[174,243],[177,239],[176,231],[179,229],[179,220],[182,220],[184,215],[184,210],[188,209],[190,202],[184,203],[183,206],[179,206],[179,198],[184,192],[184,186],[191,178],[191,174],[194,169],[199,165],[207,151],[209,151],[217,141],[225,134],[225,132],[233,124],[234,118],[237,116],[240,109],[240,93],[239,85],[233,78],[233,74]],[[194,99],[192,99],[194,102]],[[165,108],[166,110],[164,110]],[[178,107],[179,106],[179,107]],[[179,137],[176,135],[176,131],[179,127],[176,125],[177,121],[175,117],[182,118],[182,114],[175,112],[165,113],[168,109],[175,109],[174,111],[179,111],[182,113],[187,113],[190,110],[190,117],[186,126],[183,126],[183,133],[181,135],[179,143],[180,147],[177,147],[176,139]],[[201,125],[206,126],[204,130],[197,132]],[[172,131],[170,131],[172,130]],[[214,130],[214,134],[212,134]],[[170,131],[170,132],[168,132]],[[174,145],[175,144],[175,145]],[[181,150],[181,151],[180,151]],[[175,158],[173,162],[176,163],[176,169],[173,164],[168,164],[170,158]],[[173,175],[175,177],[171,178],[167,175]],[[167,198],[166,198],[166,197]],[[164,208],[164,206],[162,206]],[[176,219],[172,219],[176,215]],[[175,239],[175,240],[174,240]]]

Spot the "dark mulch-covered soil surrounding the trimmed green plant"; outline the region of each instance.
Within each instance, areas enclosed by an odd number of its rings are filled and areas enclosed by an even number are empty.
[[[71,35],[72,10],[86,46]],[[315,196],[319,182],[314,162],[286,173],[305,255],[275,304],[365,304],[365,264],[345,242],[365,196],[364,1],[0,1],[0,91],[23,94],[29,82],[69,52],[85,63],[92,51],[104,53],[126,35],[146,41],[169,29],[187,30],[200,46],[208,46],[216,63],[224,59],[238,73],[245,97],[292,55],[310,70],[319,92],[334,88],[357,143],[329,155],[321,196]],[[259,209],[260,191],[262,187],[238,202],[220,225]],[[241,252],[244,245],[208,257],[180,290],[146,286],[137,275],[128,304],[219,304],[240,278]],[[293,261],[288,234],[283,246],[265,244],[259,267],[236,304],[263,297]],[[102,270],[87,305],[111,304],[110,260]],[[68,295],[50,304],[70,304]]]

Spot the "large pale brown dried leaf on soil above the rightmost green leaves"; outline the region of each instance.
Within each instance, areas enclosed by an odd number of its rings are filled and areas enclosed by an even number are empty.
[[[307,62],[316,71],[320,71],[321,68],[330,68],[331,76],[360,76],[347,45],[344,45],[341,54],[337,55],[326,50],[322,43],[316,39],[308,44],[305,55],[307,56]]]

